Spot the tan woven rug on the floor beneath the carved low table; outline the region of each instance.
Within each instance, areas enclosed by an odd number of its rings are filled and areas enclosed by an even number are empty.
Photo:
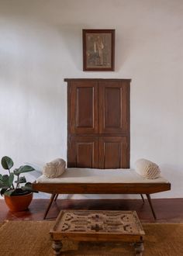
[[[53,256],[49,230],[53,221],[8,221],[0,225],[0,254],[3,256]],[[182,256],[183,223],[144,223],[144,256]],[[62,255],[130,256],[127,243],[63,243]]]

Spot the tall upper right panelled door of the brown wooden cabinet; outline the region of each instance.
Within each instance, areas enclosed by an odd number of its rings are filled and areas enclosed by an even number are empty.
[[[127,81],[99,82],[100,133],[117,134],[129,130],[129,86]]]

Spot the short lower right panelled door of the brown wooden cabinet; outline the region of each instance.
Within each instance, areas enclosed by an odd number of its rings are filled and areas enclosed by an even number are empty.
[[[99,168],[129,168],[127,137],[100,137]]]

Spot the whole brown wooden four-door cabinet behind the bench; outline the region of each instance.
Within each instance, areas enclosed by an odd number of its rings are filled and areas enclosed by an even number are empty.
[[[129,79],[67,81],[67,166],[129,168]]]

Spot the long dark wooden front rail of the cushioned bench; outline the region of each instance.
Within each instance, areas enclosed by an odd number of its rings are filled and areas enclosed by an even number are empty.
[[[105,173],[104,173],[105,175]],[[50,194],[153,194],[171,189],[170,183],[33,183]]]

